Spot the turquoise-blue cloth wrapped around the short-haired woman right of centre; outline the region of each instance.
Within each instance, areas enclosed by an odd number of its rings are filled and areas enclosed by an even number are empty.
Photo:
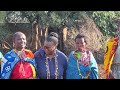
[[[96,60],[90,51],[89,53],[90,53],[90,65],[88,66],[83,65],[81,62],[77,63],[77,60],[73,55],[74,51],[70,53],[68,57],[68,67],[66,71],[67,79],[87,79],[83,77],[87,76],[88,73],[89,73],[89,79],[98,79],[98,66],[97,66]],[[79,66],[80,72],[79,72],[78,66]]]

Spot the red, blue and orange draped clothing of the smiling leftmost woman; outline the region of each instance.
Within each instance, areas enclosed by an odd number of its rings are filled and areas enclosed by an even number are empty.
[[[19,55],[11,50],[4,55],[1,63],[2,79],[28,79],[36,77],[34,54],[24,49]]]

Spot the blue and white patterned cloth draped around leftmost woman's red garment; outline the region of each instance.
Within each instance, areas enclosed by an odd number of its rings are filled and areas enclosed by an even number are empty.
[[[4,59],[1,63],[1,78],[2,79],[9,79],[11,72],[17,62],[20,60],[20,57],[11,50],[4,55]],[[30,62],[34,67],[36,67],[35,60],[33,59],[26,59],[27,62]]]

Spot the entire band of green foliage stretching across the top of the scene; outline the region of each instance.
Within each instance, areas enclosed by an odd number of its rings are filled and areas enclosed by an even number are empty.
[[[120,11],[0,11],[0,21],[7,23],[23,21],[31,25],[36,22],[41,27],[58,28],[62,26],[79,28],[79,24],[83,23],[87,16],[95,21],[105,36],[113,36],[116,32],[113,19],[120,17]],[[76,20],[79,20],[79,23]],[[30,27],[30,24],[16,24],[16,27]]]

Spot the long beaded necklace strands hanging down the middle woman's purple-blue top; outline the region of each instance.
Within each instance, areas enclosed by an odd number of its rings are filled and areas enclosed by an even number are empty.
[[[57,55],[55,54],[55,79],[58,79],[59,73],[58,73],[58,61],[57,61]],[[46,57],[46,71],[47,71],[47,79],[50,79],[50,69],[49,69],[49,63],[48,63],[49,57]]]

